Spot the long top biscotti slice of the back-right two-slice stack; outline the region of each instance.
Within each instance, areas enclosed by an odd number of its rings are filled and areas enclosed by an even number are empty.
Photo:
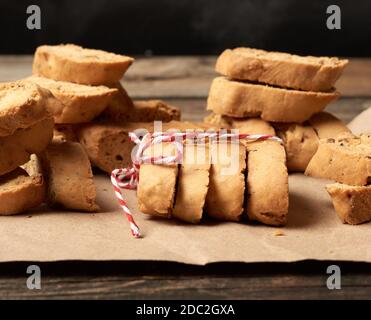
[[[251,48],[225,50],[216,71],[236,80],[249,80],[307,91],[330,91],[348,60],[298,56]]]

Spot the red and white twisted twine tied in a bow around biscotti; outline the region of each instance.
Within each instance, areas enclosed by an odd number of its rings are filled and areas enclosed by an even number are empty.
[[[128,168],[115,169],[111,173],[111,182],[119,204],[129,221],[131,233],[134,237],[140,238],[140,230],[135,223],[132,212],[130,211],[121,189],[136,189],[139,182],[139,170],[142,163],[153,164],[173,164],[179,163],[183,158],[183,143],[185,140],[202,141],[203,139],[238,139],[248,141],[272,140],[282,143],[282,140],[269,134],[247,134],[247,133],[220,133],[220,132],[154,132],[147,133],[140,139],[134,132],[129,133],[132,142],[138,145],[137,152],[134,155],[132,165]],[[176,154],[170,156],[147,156],[144,155],[146,149],[151,145],[170,142],[175,146]]]

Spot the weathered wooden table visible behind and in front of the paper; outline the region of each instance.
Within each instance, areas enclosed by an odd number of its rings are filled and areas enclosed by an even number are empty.
[[[0,57],[0,81],[31,74],[32,57]],[[182,109],[183,120],[207,114],[206,97],[215,57],[138,59],[123,84],[134,99],[161,98]],[[348,122],[371,107],[371,59],[352,59],[327,110]],[[35,262],[36,263],[36,262]],[[334,262],[222,263],[206,267],[161,262],[37,263],[42,289],[28,290],[30,263],[0,264],[0,298],[97,299],[365,299],[371,298],[371,265],[338,262],[342,289],[328,290],[326,268]]]

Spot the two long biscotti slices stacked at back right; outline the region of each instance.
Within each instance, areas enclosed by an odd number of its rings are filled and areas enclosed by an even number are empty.
[[[250,48],[225,50],[222,76],[211,84],[207,109],[236,118],[302,123],[339,97],[333,89],[347,60]]]

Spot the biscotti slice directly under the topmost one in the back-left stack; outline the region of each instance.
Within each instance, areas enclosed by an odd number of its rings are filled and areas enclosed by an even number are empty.
[[[55,123],[84,123],[97,117],[109,104],[117,89],[104,86],[86,86],[41,77],[29,77],[30,81],[50,90],[61,102],[58,109],[50,110]]]

